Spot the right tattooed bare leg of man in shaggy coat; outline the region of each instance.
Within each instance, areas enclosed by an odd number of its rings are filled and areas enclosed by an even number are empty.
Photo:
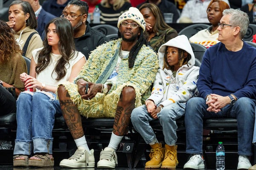
[[[134,109],[135,91],[128,86],[123,88],[119,102],[117,103],[116,115],[113,125],[113,133],[123,136],[130,122],[131,111]]]

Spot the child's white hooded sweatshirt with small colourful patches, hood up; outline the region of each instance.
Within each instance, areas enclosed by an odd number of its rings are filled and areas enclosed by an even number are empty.
[[[188,63],[177,70],[175,78],[172,76],[171,70],[163,69],[163,57],[168,46],[183,49],[191,55]],[[148,99],[153,100],[156,105],[160,103],[165,107],[175,102],[186,102],[191,97],[198,95],[196,82],[199,76],[199,67],[195,66],[195,55],[185,35],[179,35],[161,45],[158,50],[158,61],[160,68]]]

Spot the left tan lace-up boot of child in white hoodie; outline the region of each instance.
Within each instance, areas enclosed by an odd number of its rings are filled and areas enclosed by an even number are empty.
[[[151,146],[151,153],[149,154],[150,161],[147,161],[145,164],[145,168],[160,168],[163,156],[164,156],[164,148],[161,143],[155,143]]]

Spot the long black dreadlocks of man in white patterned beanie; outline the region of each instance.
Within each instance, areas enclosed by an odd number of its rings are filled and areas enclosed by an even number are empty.
[[[118,37],[119,38],[121,37],[120,31],[118,31]],[[131,51],[129,53],[129,57],[128,57],[129,68],[133,68],[136,56],[139,53],[140,48],[143,46],[143,44],[148,46],[147,40],[145,39],[144,34],[143,34],[143,29],[140,27],[140,35],[138,36],[138,40],[137,40],[136,44],[131,48]]]

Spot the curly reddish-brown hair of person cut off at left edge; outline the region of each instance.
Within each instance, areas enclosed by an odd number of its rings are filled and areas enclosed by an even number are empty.
[[[0,63],[9,61],[12,54],[21,53],[12,28],[3,20],[0,20],[0,44]]]

